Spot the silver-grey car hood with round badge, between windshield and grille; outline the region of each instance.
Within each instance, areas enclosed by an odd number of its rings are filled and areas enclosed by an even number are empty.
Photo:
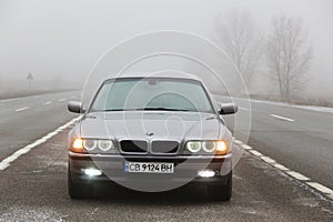
[[[127,111],[89,113],[81,121],[82,138],[140,140],[231,139],[222,120],[212,113]]]

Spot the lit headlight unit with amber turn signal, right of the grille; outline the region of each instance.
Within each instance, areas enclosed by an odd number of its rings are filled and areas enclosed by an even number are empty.
[[[228,142],[224,140],[189,141],[185,145],[191,153],[198,153],[201,149],[205,153],[224,155],[229,152]]]

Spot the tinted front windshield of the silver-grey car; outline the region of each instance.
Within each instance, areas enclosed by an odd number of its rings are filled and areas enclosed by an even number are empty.
[[[90,112],[130,110],[213,112],[200,81],[167,78],[108,80],[90,108]]]

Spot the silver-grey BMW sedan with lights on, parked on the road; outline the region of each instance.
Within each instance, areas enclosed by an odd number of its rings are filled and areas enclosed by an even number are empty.
[[[68,109],[82,114],[68,137],[72,199],[92,196],[100,182],[144,192],[189,183],[231,199],[233,138],[222,115],[238,107],[215,101],[199,77],[124,73],[107,78],[87,109]]]

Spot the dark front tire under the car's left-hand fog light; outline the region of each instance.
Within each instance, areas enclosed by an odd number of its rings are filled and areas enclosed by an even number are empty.
[[[71,199],[87,199],[93,194],[93,184],[75,183],[72,181],[70,171],[68,173],[68,193]]]

